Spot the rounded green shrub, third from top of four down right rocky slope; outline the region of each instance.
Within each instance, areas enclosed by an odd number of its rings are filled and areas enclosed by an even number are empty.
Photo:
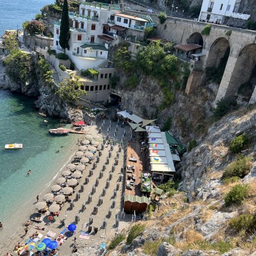
[[[248,185],[234,185],[225,196],[225,205],[241,204],[248,197],[250,187]]]

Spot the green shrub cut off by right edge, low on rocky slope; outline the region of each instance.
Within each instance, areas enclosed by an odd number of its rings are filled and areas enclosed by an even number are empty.
[[[232,218],[228,225],[237,232],[240,232],[241,230],[254,232],[256,214],[241,214],[238,217]]]

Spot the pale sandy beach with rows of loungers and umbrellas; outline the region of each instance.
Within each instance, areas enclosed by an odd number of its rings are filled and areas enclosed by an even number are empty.
[[[92,136],[92,141],[98,141],[99,146],[98,148],[101,148],[101,144],[103,141],[103,137],[107,134],[107,129],[109,127],[109,120],[105,120],[104,129],[102,130],[102,133],[98,133],[98,128],[102,124],[103,121],[99,121],[97,125],[93,126],[87,126],[85,127],[85,132],[87,134]],[[114,132],[117,127],[117,122],[111,123],[111,128],[109,129],[109,136],[114,137]],[[15,245],[18,242],[26,242],[29,239],[29,236],[34,234],[36,229],[35,225],[39,225],[41,227],[44,227],[44,231],[38,231],[42,235],[42,239],[46,236],[46,234],[52,234],[52,239],[56,238],[64,228],[67,228],[67,226],[75,221],[75,216],[78,215],[79,221],[77,224],[77,230],[75,232],[75,235],[73,235],[71,238],[68,238],[67,241],[65,241],[61,246],[58,247],[58,255],[71,255],[72,254],[72,238],[74,236],[77,238],[77,246],[79,254],[77,255],[86,255],[86,252],[88,250],[88,247],[91,247],[93,245],[97,245],[99,247],[100,244],[104,244],[109,237],[112,237],[115,232],[117,232],[117,228],[115,227],[115,219],[117,214],[121,211],[121,196],[122,196],[122,181],[119,182],[120,175],[121,175],[121,167],[123,165],[123,154],[124,152],[121,151],[118,153],[119,149],[119,141],[121,141],[122,134],[124,132],[124,128],[121,128],[121,123],[119,122],[118,125],[118,131],[116,132],[116,143],[114,147],[111,150],[110,145],[104,145],[104,149],[101,150],[102,155],[99,157],[99,161],[97,163],[97,167],[93,168],[94,162],[96,162],[96,157],[98,156],[98,151],[95,152],[95,159],[85,168],[85,170],[82,173],[82,178],[79,181],[79,184],[77,187],[75,187],[75,192],[70,197],[71,200],[74,200],[74,207],[70,208],[70,204],[66,202],[64,206],[62,207],[59,216],[56,217],[56,221],[54,223],[49,223],[47,220],[47,217],[49,216],[49,211],[46,212],[46,214],[42,215],[44,218],[44,221],[41,222],[41,224],[31,224],[28,227],[28,234],[25,234],[24,228],[25,228],[25,222],[29,220],[29,216],[33,214],[34,212],[37,212],[35,210],[35,202],[31,202],[29,204],[29,207],[27,208],[26,212],[19,213],[19,221],[16,224],[18,227],[16,231],[8,229],[8,227],[5,227],[4,230],[0,231],[0,240],[1,240],[1,255],[5,255],[6,252],[12,252]],[[81,141],[85,139],[85,135],[79,135],[77,138],[80,138]],[[67,162],[64,163],[64,167],[58,170],[56,172],[54,180],[52,180],[51,183],[49,183],[48,187],[44,189],[44,191],[41,192],[39,195],[39,201],[42,201],[42,197],[47,194],[48,192],[51,192],[51,186],[56,184],[56,179],[61,177],[61,172],[64,170],[67,170],[66,165],[72,162],[74,159],[75,152],[78,151],[79,145],[73,145],[72,150],[70,150],[69,158],[67,159]],[[109,157],[110,152],[110,157]],[[119,154],[117,158],[117,153]],[[106,164],[107,157],[109,157],[109,164]],[[118,164],[115,163],[116,159],[118,159]],[[102,170],[103,166],[105,165],[105,171],[103,172],[103,177],[99,178],[99,172]],[[112,171],[112,167],[114,166],[114,170]],[[88,184],[85,184],[85,177],[89,175],[89,170],[93,169],[93,174],[88,177],[89,182]],[[110,176],[109,176],[110,175]],[[111,178],[111,179],[110,179]],[[102,196],[102,191],[106,187],[107,179],[109,179],[109,187],[106,189],[105,195]],[[96,185],[98,181],[98,185]],[[119,188],[116,190],[116,195],[114,197],[114,191],[117,189],[117,184],[119,183]],[[81,185],[84,186],[84,191],[81,192]],[[91,201],[88,202],[88,194],[92,193],[92,189],[95,186],[95,192],[91,195]],[[79,199],[75,200],[77,192],[79,193]],[[102,197],[101,197],[102,196]],[[102,204],[99,205],[99,198],[102,198]],[[36,195],[35,195],[36,198]],[[113,203],[113,201],[115,201]],[[82,211],[82,204],[85,203],[85,210]],[[114,205],[115,204],[115,205]],[[114,207],[113,207],[114,205]],[[94,212],[94,208],[98,207],[97,214],[92,214]],[[109,210],[111,211],[111,214],[109,215]],[[92,231],[94,231],[94,227],[98,228],[97,234],[94,234],[94,232],[91,232],[86,238],[79,238],[79,232],[88,231],[88,222],[89,217],[93,218],[93,222],[91,224]],[[65,220],[65,226],[60,224],[61,220]],[[102,227],[103,222],[107,222],[107,227]],[[124,224],[120,224],[119,228],[123,226]]]

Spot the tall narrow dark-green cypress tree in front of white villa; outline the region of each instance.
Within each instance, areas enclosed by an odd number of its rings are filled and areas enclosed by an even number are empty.
[[[68,40],[69,40],[69,15],[68,15],[68,1],[64,0],[62,6],[62,14],[61,14],[61,31],[59,33],[59,45],[66,52],[66,48],[68,48]]]

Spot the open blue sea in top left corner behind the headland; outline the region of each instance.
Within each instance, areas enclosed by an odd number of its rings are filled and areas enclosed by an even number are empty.
[[[5,29],[22,28],[25,19],[33,19],[42,6],[54,0],[0,0],[0,35]]]

